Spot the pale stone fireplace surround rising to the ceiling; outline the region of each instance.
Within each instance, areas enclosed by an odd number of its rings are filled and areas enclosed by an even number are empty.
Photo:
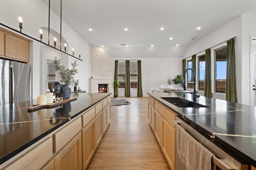
[[[102,47],[92,45],[92,77],[90,89],[98,93],[98,84],[108,84],[108,93],[114,97],[114,78],[112,78],[112,56]]]

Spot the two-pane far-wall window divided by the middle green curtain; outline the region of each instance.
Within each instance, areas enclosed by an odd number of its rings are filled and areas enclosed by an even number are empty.
[[[130,61],[130,88],[137,88],[138,79],[138,63],[137,61]],[[118,61],[118,88],[125,86],[125,61]]]

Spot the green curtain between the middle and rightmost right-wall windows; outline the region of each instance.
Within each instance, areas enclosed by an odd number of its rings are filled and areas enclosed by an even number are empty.
[[[205,50],[204,96],[212,97],[211,50]]]

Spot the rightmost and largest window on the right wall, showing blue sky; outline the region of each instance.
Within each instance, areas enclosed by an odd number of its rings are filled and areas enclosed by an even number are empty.
[[[228,47],[215,51],[215,92],[226,93],[226,63]]]

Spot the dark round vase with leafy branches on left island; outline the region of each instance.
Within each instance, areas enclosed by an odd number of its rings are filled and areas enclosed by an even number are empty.
[[[71,63],[72,68],[66,68],[65,66],[61,65],[60,59],[57,59],[57,57],[54,57],[54,68],[59,73],[60,82],[62,82],[59,97],[62,97],[63,99],[69,99],[71,96],[71,88],[68,87],[74,78],[74,75],[78,73],[78,70],[76,69],[76,66],[78,65],[76,61],[74,63]]]

